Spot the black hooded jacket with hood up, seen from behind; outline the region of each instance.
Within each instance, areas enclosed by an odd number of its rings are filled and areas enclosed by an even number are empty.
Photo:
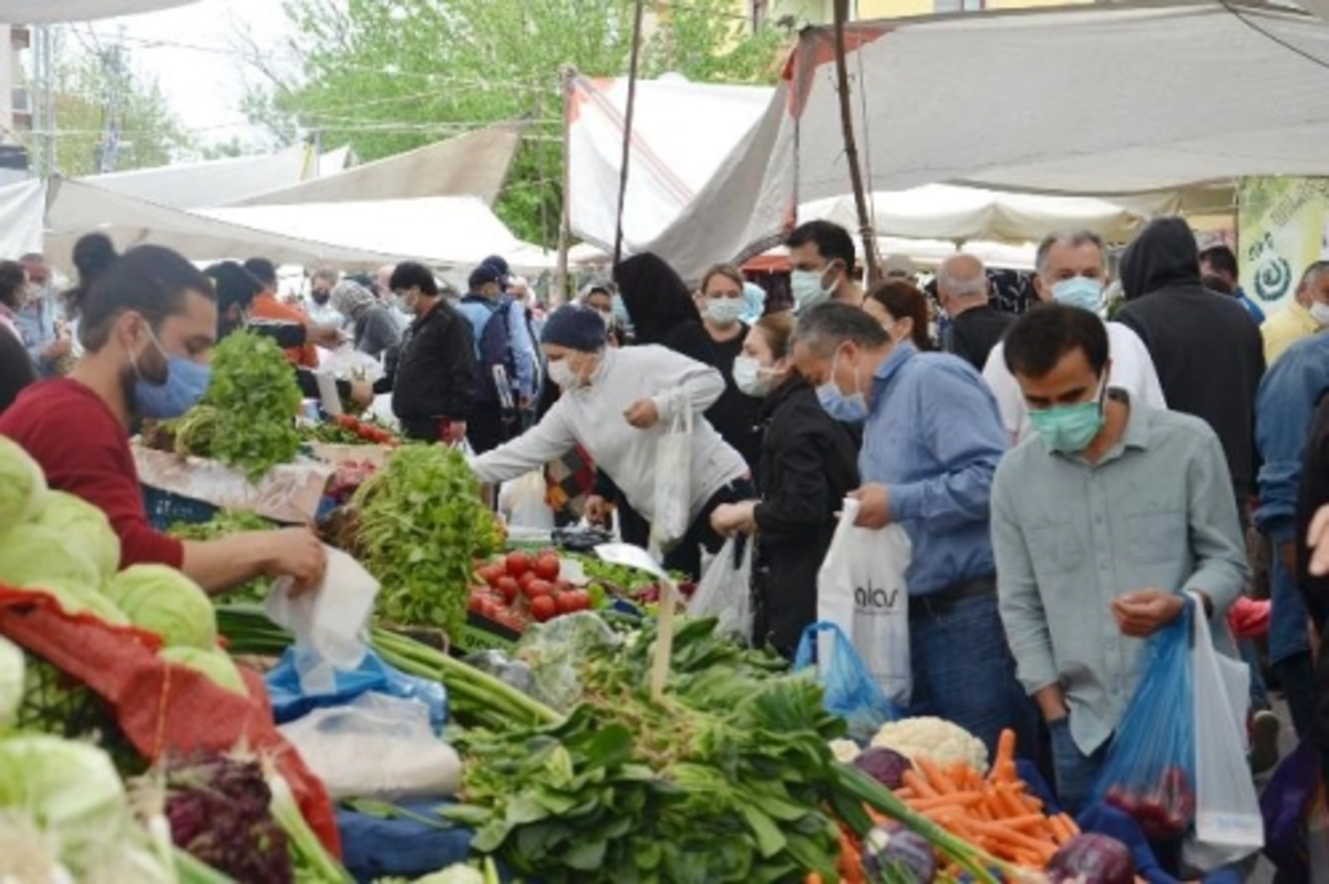
[[[1195,234],[1181,218],[1152,221],[1135,238],[1122,257],[1122,287],[1128,303],[1118,320],[1148,347],[1168,408],[1213,428],[1236,493],[1251,493],[1260,328],[1239,302],[1200,284]]]

